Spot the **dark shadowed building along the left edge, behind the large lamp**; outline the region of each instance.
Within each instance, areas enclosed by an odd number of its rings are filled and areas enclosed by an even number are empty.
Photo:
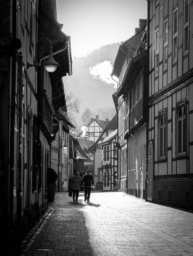
[[[13,255],[48,207],[55,113],[65,112],[62,77],[72,75],[72,61],[54,0],[0,6],[0,233]],[[57,69],[47,72],[52,52]]]

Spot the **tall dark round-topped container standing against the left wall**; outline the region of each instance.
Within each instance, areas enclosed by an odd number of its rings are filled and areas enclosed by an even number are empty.
[[[57,173],[52,168],[47,168],[47,188],[48,202],[54,202],[55,192],[56,192],[56,181],[57,181]]]

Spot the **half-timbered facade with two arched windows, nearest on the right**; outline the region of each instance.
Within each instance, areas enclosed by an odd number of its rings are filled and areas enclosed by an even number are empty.
[[[149,1],[148,200],[193,209],[193,1]]]

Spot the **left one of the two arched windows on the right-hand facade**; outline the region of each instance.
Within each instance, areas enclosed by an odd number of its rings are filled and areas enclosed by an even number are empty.
[[[159,113],[158,122],[158,158],[163,158],[166,157],[167,152],[167,128],[165,110]]]

